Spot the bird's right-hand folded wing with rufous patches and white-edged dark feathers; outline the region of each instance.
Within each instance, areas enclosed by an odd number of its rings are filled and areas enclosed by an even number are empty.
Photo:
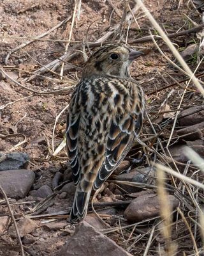
[[[119,166],[126,154],[128,154],[135,135],[137,136],[142,128],[142,118],[142,113],[140,113],[138,115],[128,116],[122,124],[119,124],[116,120],[112,120],[106,143],[105,162],[98,172],[94,182],[94,189],[100,188],[115,168]]]

